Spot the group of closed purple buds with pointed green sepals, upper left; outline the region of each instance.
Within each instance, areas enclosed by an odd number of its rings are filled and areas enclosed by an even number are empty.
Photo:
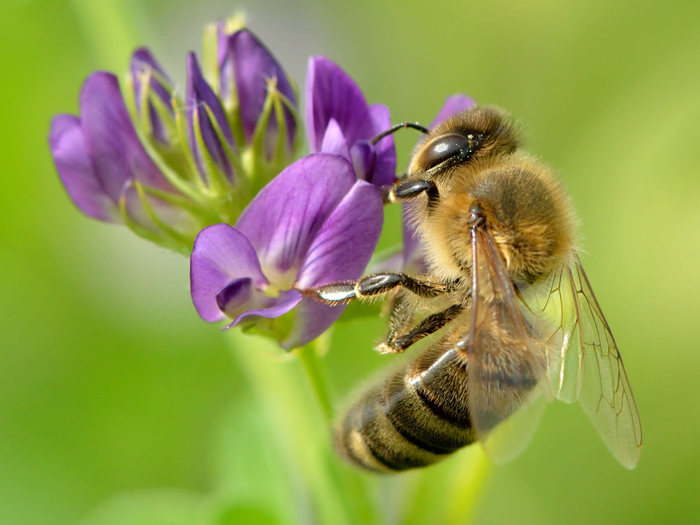
[[[81,211],[181,253],[207,225],[234,223],[301,142],[297,90],[272,53],[231,20],[211,27],[205,62],[214,78],[190,53],[184,100],[140,48],[123,90],[112,73],[93,73],[80,117],[56,116],[49,134]]]

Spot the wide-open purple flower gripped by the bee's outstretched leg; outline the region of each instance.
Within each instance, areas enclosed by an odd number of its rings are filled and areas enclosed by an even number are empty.
[[[244,210],[235,228],[200,232],[190,262],[195,308],[209,322],[255,325],[284,348],[306,344],[342,314],[302,290],[357,279],[370,260],[382,223],[377,188],[356,181],[339,155],[298,160]],[[293,320],[272,323],[294,309]]]

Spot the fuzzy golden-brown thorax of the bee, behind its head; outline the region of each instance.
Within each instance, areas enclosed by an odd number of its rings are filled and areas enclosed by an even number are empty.
[[[470,274],[470,207],[478,204],[513,281],[533,282],[568,262],[577,221],[561,183],[524,155],[486,157],[437,179],[440,199],[416,202],[414,218],[431,272],[443,279]]]

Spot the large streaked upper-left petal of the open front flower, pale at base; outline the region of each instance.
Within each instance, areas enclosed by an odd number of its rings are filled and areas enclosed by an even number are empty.
[[[353,183],[346,159],[317,153],[286,167],[248,204],[236,228],[255,247],[270,282],[291,287],[311,242]]]

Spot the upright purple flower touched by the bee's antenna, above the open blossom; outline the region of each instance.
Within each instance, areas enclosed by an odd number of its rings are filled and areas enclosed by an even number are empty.
[[[389,110],[368,106],[358,85],[335,62],[311,57],[306,86],[306,122],[312,153],[337,153],[350,160],[358,179],[376,186],[393,183],[393,137],[370,139],[391,127]]]

